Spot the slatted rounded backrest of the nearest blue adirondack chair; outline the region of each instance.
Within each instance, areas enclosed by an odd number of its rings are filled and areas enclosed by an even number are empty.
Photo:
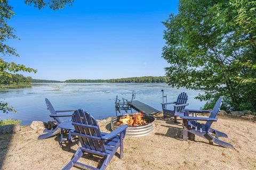
[[[85,134],[79,138],[79,141],[81,142],[81,145],[83,147],[95,151],[106,152],[104,142],[103,140],[100,139],[101,132],[99,129],[99,125],[97,121],[88,112],[84,112],[83,109],[78,109],[74,112],[72,120],[74,123],[81,123],[94,127],[90,128],[90,126],[81,126],[73,124],[76,133]]]

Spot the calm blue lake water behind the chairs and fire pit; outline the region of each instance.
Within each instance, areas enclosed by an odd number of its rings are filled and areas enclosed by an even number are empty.
[[[187,108],[200,108],[205,102],[196,100],[199,91],[175,89],[164,83],[34,83],[28,88],[0,90],[0,100],[13,106],[18,113],[0,113],[0,119],[17,118],[23,125],[31,121],[49,121],[45,98],[48,98],[56,110],[83,108],[97,119],[115,116],[115,99],[131,99],[132,90],[135,100],[162,111],[162,92],[167,101],[175,101],[185,91],[188,94]],[[125,113],[123,111],[123,113]],[[122,114],[122,112],[121,112]]]

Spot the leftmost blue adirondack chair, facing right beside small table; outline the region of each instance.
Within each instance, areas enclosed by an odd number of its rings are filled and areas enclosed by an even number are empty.
[[[52,128],[51,130],[45,129],[44,134],[39,135],[38,140],[50,138],[56,134],[59,134],[61,132],[61,129],[59,127],[60,123],[62,123],[63,125],[65,124],[67,127],[70,127],[70,128],[73,127],[73,125],[71,124],[72,123],[71,116],[73,115],[74,110],[55,111],[51,102],[47,98],[45,98],[45,103],[46,103],[47,109],[51,113],[50,117],[54,118],[55,122],[57,123],[57,126],[55,128]],[[65,114],[63,114],[63,113],[65,113]],[[60,117],[70,117],[70,119],[68,121],[61,121]],[[61,139],[61,143],[62,143],[62,139]]]

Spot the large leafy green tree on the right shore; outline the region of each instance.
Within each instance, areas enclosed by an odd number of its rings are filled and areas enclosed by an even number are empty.
[[[227,111],[255,110],[255,8],[250,0],[180,0],[163,22],[169,85],[203,90],[205,108],[223,96]]]

